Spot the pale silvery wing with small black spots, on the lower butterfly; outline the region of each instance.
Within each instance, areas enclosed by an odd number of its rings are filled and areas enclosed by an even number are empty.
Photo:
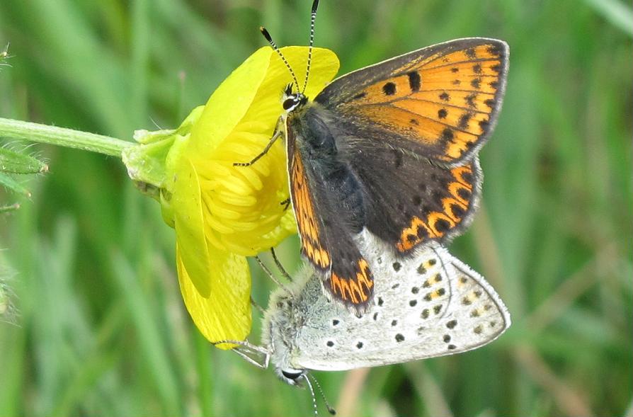
[[[376,281],[375,305],[362,317],[324,297],[300,307],[293,365],[349,370],[450,355],[494,341],[510,326],[486,280],[440,246],[382,265],[381,274],[390,268],[399,279]]]

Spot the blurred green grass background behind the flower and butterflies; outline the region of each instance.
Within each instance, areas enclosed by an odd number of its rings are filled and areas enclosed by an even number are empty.
[[[310,3],[4,0],[0,45],[14,57],[0,117],[129,139],[176,127],[264,44],[258,25],[304,45]],[[632,416],[632,8],[324,0],[316,42],[343,74],[464,36],[506,40],[511,66],[481,152],[483,204],[451,251],[495,285],[513,327],[472,353],[317,378],[343,416]],[[307,392],[195,331],[173,233],[120,161],[25,152],[50,173],[25,182],[30,200],[0,190],[21,202],[0,215],[0,273],[17,271],[20,310],[18,326],[0,321],[0,416],[312,413]],[[280,256],[296,267],[296,237]],[[253,281],[265,305],[273,286]]]

